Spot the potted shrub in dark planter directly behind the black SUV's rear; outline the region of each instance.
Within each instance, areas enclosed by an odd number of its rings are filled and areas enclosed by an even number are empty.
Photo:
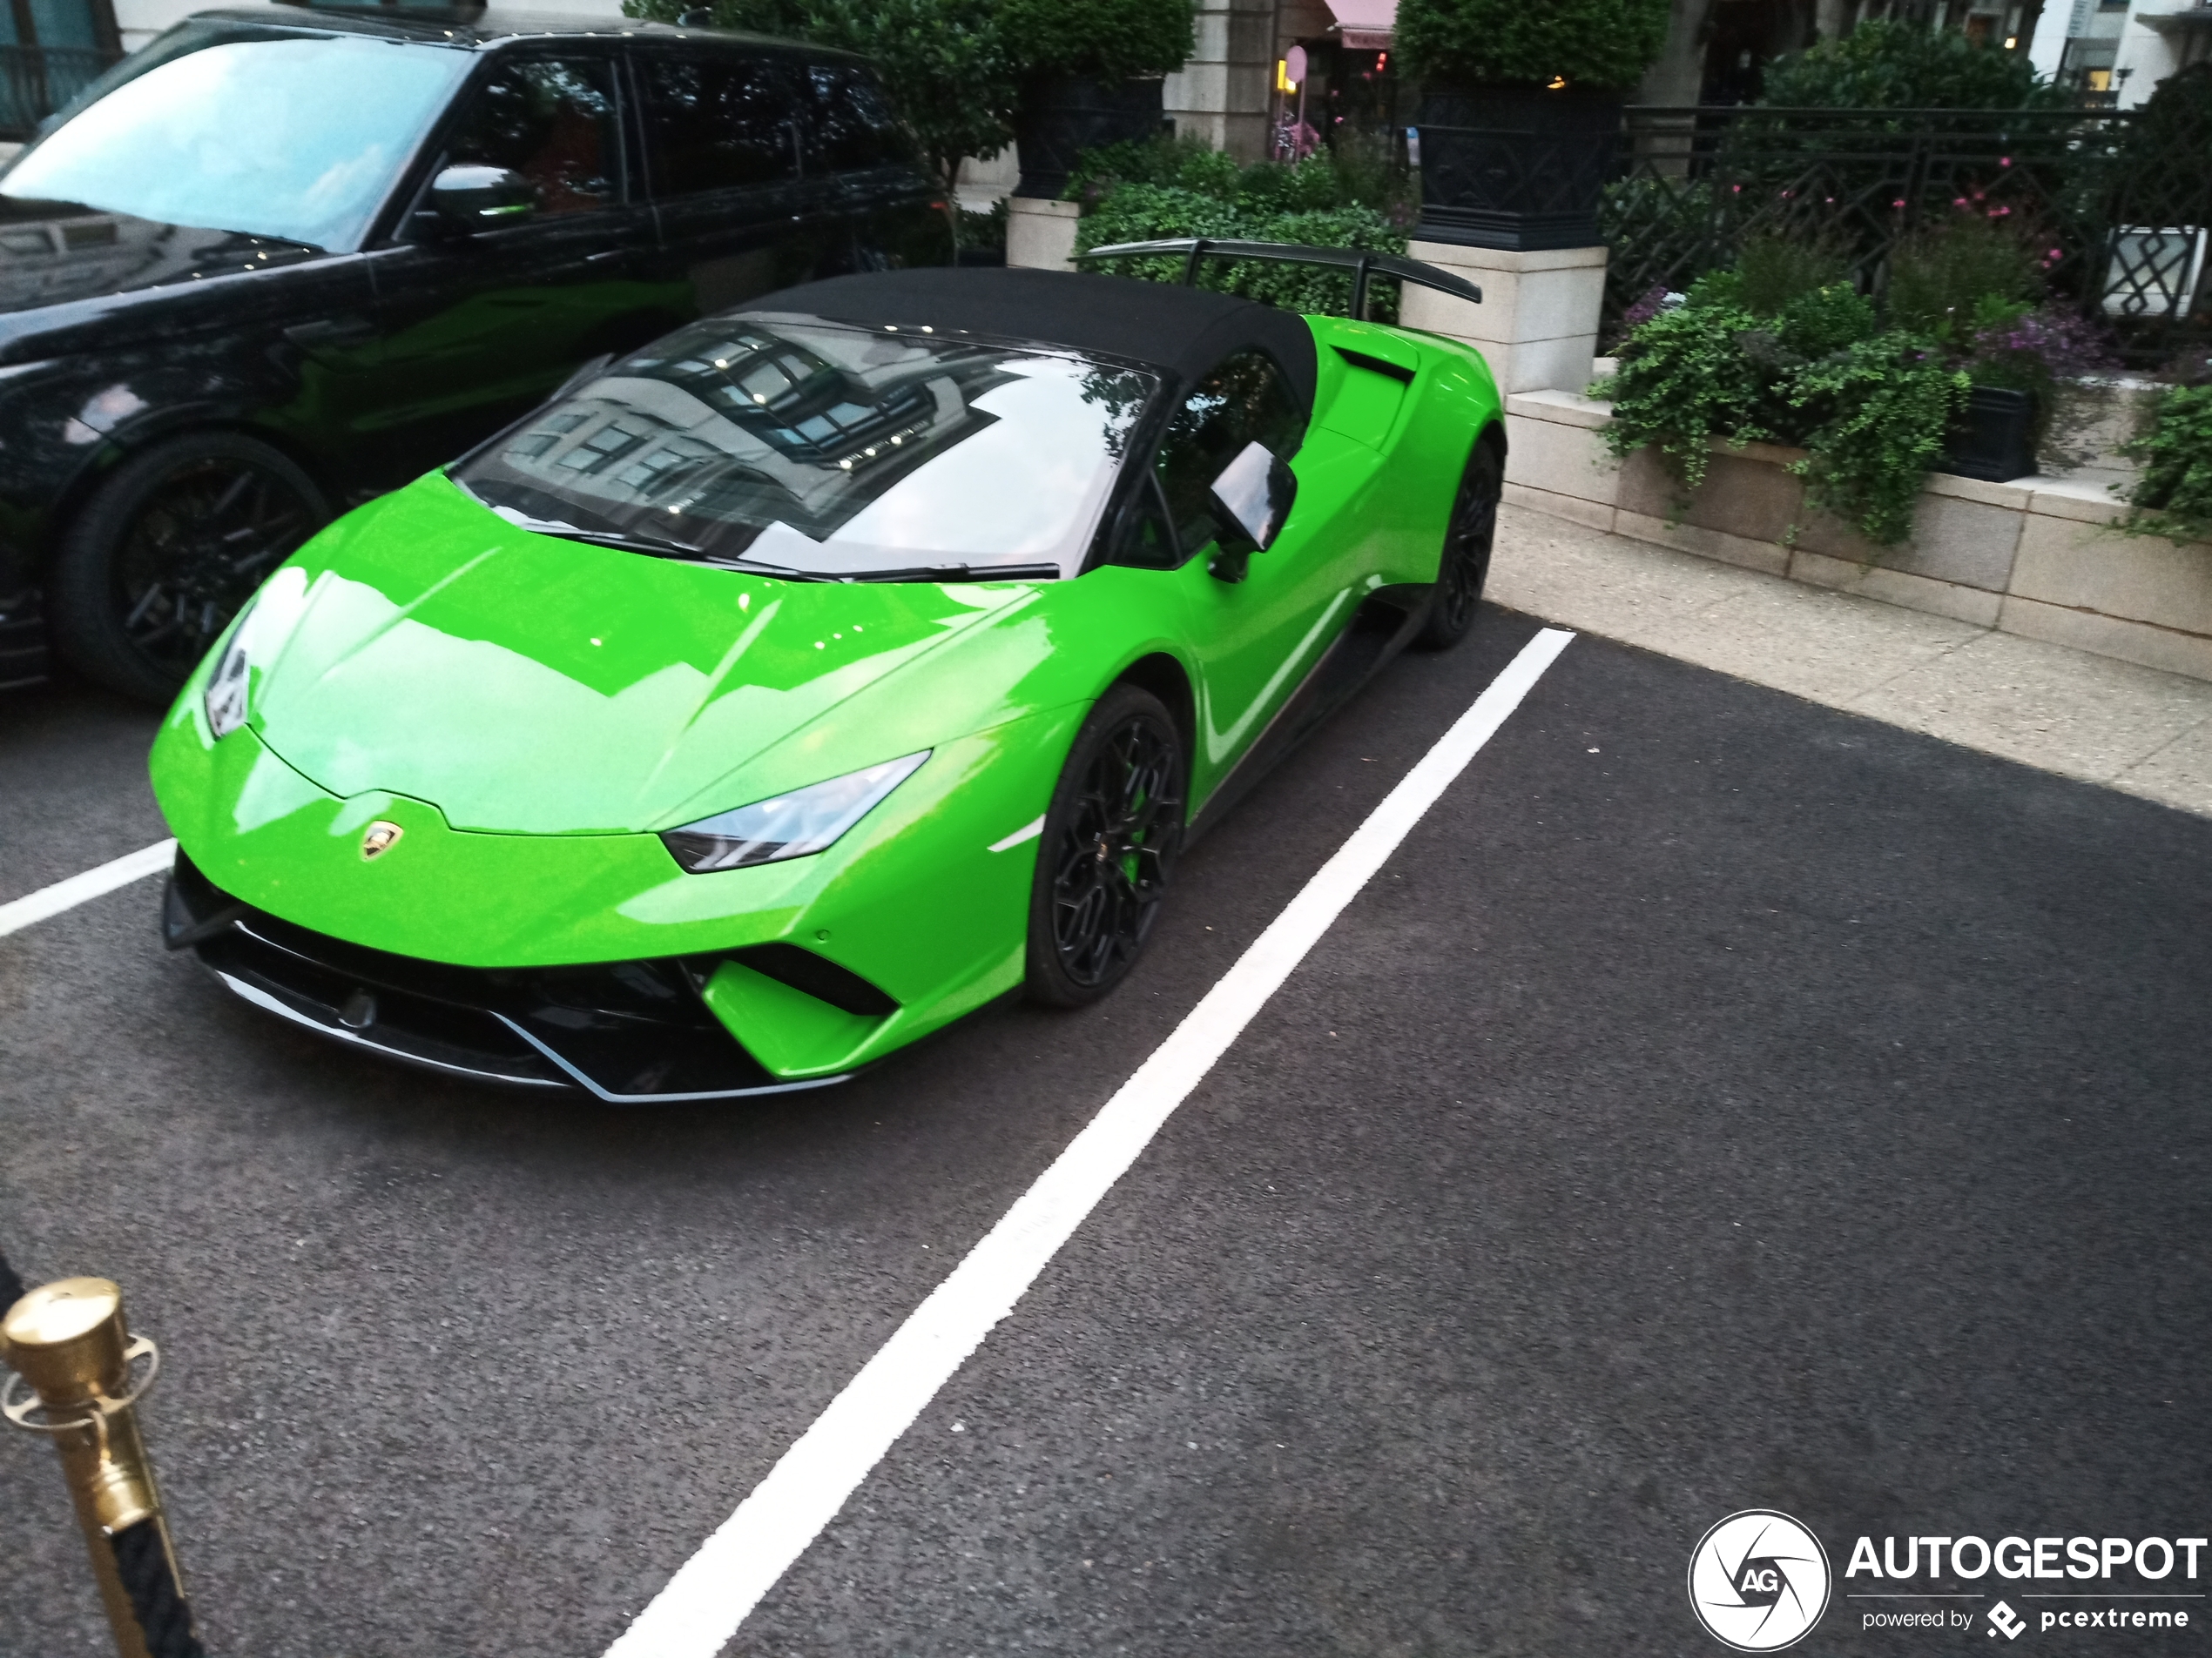
[[[1190,57],[1192,0],[1000,0],[1020,77],[1015,195],[1060,199],[1075,159],[1161,130],[1159,77]]]

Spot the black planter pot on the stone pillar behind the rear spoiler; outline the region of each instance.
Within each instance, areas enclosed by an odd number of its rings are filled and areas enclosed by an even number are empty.
[[[1418,241],[1595,248],[1621,99],[1542,86],[1431,88],[1420,104]]]

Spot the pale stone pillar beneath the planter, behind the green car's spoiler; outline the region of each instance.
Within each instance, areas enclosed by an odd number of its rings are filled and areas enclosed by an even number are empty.
[[[1407,252],[1471,281],[1482,290],[1482,303],[1405,283],[1398,316],[1405,327],[1478,347],[1502,393],[1582,391],[1590,382],[1597,309],[1606,298],[1604,248],[1513,254],[1416,241]]]

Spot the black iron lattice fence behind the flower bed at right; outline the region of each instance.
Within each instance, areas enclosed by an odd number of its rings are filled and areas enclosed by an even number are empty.
[[[2212,338],[2212,133],[2137,111],[1657,106],[1626,113],[1606,186],[1604,336],[1759,234],[1818,241],[1878,294],[1905,237],[1964,212],[2037,248],[2053,296],[2101,318],[2128,363]]]

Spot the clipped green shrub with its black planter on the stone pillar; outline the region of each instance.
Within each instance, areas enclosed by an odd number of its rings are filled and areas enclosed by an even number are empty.
[[[1621,93],[1666,42],[1668,0],[1400,0],[1422,80],[1422,241],[1590,248]]]

